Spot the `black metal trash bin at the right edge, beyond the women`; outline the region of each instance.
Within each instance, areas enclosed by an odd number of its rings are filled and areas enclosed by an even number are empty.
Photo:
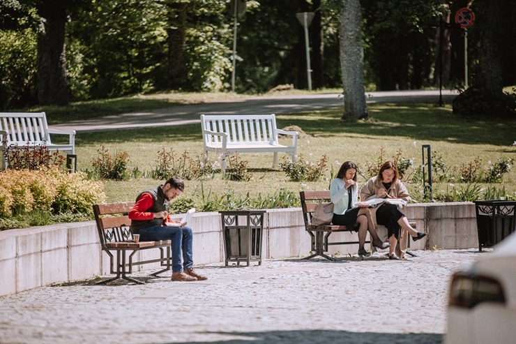
[[[516,230],[516,201],[473,201],[476,209],[478,250],[498,244]]]

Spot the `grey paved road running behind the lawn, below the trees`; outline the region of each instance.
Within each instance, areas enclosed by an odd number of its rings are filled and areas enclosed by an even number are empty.
[[[441,91],[446,103],[451,103],[457,91]],[[397,101],[438,103],[437,90],[367,92],[367,103],[392,103]],[[52,124],[52,128],[79,132],[180,126],[200,123],[201,114],[285,114],[342,107],[342,94],[303,94],[296,96],[259,96],[220,100],[212,103],[176,105],[165,109],[130,112],[83,121]],[[47,115],[51,115],[50,113]]]

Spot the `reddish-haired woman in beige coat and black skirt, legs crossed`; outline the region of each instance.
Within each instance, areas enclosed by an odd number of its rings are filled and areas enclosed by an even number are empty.
[[[378,175],[369,179],[361,189],[362,200],[371,200],[373,198],[401,198],[405,202],[409,202],[409,191],[400,181],[400,174],[392,161],[384,163],[380,167]],[[389,259],[404,259],[404,253],[407,250],[407,240],[402,240],[405,237],[404,233],[401,234],[400,239],[400,231],[403,229],[405,232],[408,232],[413,241],[425,237],[426,234],[413,229],[402,209],[395,204],[383,203],[375,210],[377,223],[387,227],[390,244]],[[398,241],[400,241],[399,258],[395,255]]]

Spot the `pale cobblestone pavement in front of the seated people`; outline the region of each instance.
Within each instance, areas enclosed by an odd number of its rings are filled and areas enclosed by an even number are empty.
[[[0,297],[0,343],[442,343],[450,274],[478,250],[197,267],[208,281],[133,276]]]

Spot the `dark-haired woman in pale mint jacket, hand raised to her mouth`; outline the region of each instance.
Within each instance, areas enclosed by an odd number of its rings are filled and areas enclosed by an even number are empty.
[[[367,231],[370,233],[374,247],[384,250],[388,246],[378,237],[374,228],[371,211],[367,207],[357,207],[358,184],[356,183],[356,165],[347,161],[340,166],[335,179],[330,186],[331,202],[333,203],[333,225],[345,225],[348,228],[358,226],[358,255],[362,258],[370,253],[364,248]]]

